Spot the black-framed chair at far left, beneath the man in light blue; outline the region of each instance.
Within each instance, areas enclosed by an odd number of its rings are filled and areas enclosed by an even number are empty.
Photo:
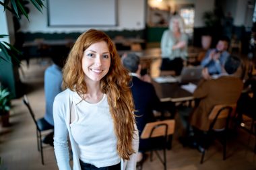
[[[38,151],[40,151],[40,153],[41,153],[42,165],[44,165],[44,155],[42,153],[42,132],[44,132],[46,130],[53,130],[54,127],[51,124],[49,124],[48,122],[46,122],[46,120],[44,120],[44,118],[40,118],[40,119],[36,120],[36,117],[34,115],[34,112],[33,112],[32,108],[30,106],[30,103],[28,101],[28,97],[26,95],[24,95],[24,97],[23,97],[23,102],[26,105],[26,107],[28,108],[28,111],[30,112],[30,115],[32,116],[34,124],[36,124],[37,148],[38,148]]]

